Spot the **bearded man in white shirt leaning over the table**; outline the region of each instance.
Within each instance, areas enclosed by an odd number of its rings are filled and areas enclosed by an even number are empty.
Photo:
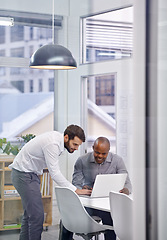
[[[12,182],[21,196],[24,215],[20,240],[40,240],[43,231],[44,210],[38,175],[48,168],[51,178],[59,185],[69,187],[77,194],[90,195],[88,189],[77,189],[60,172],[58,157],[66,149],[69,153],[78,150],[85,142],[85,134],[77,125],[70,125],[61,134],[57,131],[36,136],[26,143],[13,163]]]

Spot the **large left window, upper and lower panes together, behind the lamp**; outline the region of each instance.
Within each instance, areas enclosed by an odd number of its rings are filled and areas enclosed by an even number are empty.
[[[16,11],[3,11],[3,14],[11,16],[17,21],[13,27],[0,26],[0,56],[4,57],[3,62],[5,63],[4,67],[0,62],[0,92],[5,93],[0,99],[0,134],[1,137],[12,137],[12,139],[18,140],[17,137],[23,131],[30,133],[33,129],[34,132],[31,133],[40,134],[53,130],[54,71],[27,67],[27,58],[30,58],[39,46],[51,43],[52,24],[50,14]],[[62,19],[61,16],[55,16],[55,35],[62,28]],[[6,57],[8,57],[8,61],[6,61]],[[20,60],[20,57],[23,59]],[[50,108],[47,109],[45,106],[48,102]],[[27,111],[34,112],[34,106],[38,106],[35,108],[36,114],[30,115],[30,122],[27,124],[27,121],[23,119],[26,118]],[[46,118],[41,118],[43,116],[41,109],[45,111]],[[17,131],[13,125],[15,119],[18,123]],[[45,124],[45,121],[49,121],[49,124]],[[39,126],[33,128],[34,124],[39,124]],[[11,125],[13,126],[11,127]]]

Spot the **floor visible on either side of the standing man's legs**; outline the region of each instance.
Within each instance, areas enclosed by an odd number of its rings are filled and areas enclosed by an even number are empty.
[[[58,226],[50,226],[47,231],[43,231],[42,240],[58,240]],[[19,240],[19,230],[1,231],[0,240]]]

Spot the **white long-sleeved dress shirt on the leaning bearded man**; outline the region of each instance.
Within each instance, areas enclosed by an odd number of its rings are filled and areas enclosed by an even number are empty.
[[[59,168],[58,157],[64,150],[63,134],[56,131],[46,132],[26,143],[9,168],[21,172],[34,172],[37,175],[41,175],[43,169],[48,168],[51,178],[59,186],[75,191],[76,187],[62,175]]]

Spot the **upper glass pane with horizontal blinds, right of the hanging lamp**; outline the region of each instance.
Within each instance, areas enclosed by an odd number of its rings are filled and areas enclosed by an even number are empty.
[[[132,7],[82,18],[82,28],[82,63],[132,56]]]

